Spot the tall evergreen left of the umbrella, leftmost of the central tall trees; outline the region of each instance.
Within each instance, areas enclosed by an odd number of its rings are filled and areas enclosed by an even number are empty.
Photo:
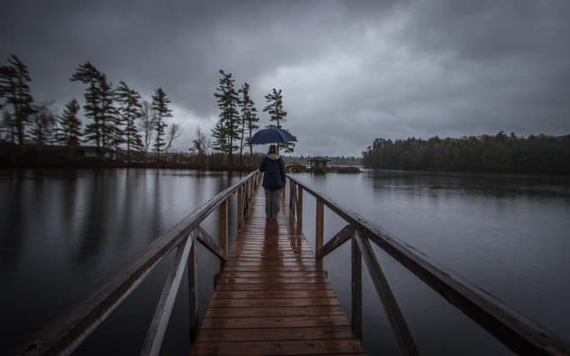
[[[215,150],[220,150],[228,155],[230,167],[233,166],[233,151],[238,149],[237,142],[240,139],[240,115],[238,105],[240,98],[235,91],[235,80],[232,73],[225,73],[220,69],[222,77],[216,87],[214,96],[217,99],[217,107],[220,109],[220,119],[212,130],[212,136],[216,139],[213,145]]]

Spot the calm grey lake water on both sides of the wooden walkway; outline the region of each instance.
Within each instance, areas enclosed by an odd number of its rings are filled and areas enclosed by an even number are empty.
[[[531,177],[366,171],[296,174],[446,268],[570,342],[570,182]],[[61,315],[131,261],[152,239],[239,175],[191,170],[0,170],[0,354]],[[304,231],[314,245],[314,199],[305,194]],[[230,204],[232,236],[235,202]],[[345,223],[325,211],[325,239]],[[203,227],[217,236],[217,214]],[[376,249],[422,354],[509,354],[391,257]],[[325,259],[350,313],[350,249]],[[159,263],[77,354],[137,354],[172,258]],[[199,249],[203,315],[216,260]],[[397,345],[363,267],[364,348]],[[163,344],[187,354],[185,278]]]

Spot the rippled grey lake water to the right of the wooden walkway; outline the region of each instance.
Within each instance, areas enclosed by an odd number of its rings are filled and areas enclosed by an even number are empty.
[[[517,312],[570,340],[570,182],[565,177],[366,171],[297,178],[395,234]],[[314,199],[304,199],[305,235],[314,235]],[[325,239],[346,223],[325,209]],[[441,295],[376,249],[422,354],[509,354]],[[325,259],[350,310],[349,249]],[[348,273],[348,274],[347,274]],[[396,352],[368,274],[364,347]],[[476,347],[473,347],[476,345]]]

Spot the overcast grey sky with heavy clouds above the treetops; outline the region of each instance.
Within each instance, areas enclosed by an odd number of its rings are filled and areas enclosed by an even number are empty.
[[[85,101],[85,61],[149,100],[162,86],[178,150],[215,125],[224,69],[259,111],[282,89],[296,154],[360,156],[377,137],[570,134],[568,19],[567,0],[4,0],[0,55],[58,110]]]

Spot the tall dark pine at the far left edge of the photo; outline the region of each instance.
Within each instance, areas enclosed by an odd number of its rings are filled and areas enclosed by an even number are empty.
[[[13,54],[8,57],[8,65],[0,67],[0,98],[4,99],[0,109],[12,105],[12,120],[8,123],[12,125],[20,145],[24,144],[30,116],[34,114],[34,98],[28,85],[31,80],[28,67]]]

